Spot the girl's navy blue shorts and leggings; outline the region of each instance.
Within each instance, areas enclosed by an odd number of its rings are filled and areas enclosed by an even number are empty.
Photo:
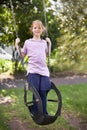
[[[49,77],[47,76],[42,76],[39,74],[28,74],[28,82],[31,83],[38,91],[41,100],[42,100],[42,105],[43,105],[43,114],[47,114],[47,99],[46,99],[46,93],[48,90],[50,90],[51,88],[51,82]],[[33,99],[35,99],[35,97],[33,96]],[[33,106],[33,112],[35,114],[38,113],[38,108],[37,108],[37,104],[34,103]]]

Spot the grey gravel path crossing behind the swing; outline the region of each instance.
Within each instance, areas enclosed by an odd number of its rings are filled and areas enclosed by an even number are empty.
[[[52,77],[51,81],[55,83],[55,85],[71,85],[71,84],[80,84],[87,83],[87,75],[74,75],[74,76],[66,76],[66,77]],[[22,77],[14,78],[11,75],[1,74],[0,75],[0,89],[2,88],[11,88],[11,87],[24,87],[26,83],[26,79]]]

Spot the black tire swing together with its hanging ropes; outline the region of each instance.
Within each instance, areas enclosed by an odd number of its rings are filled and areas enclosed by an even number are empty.
[[[14,8],[12,4],[12,0],[10,0],[10,5],[12,9],[12,15],[14,20],[14,31],[16,33],[16,37],[18,37],[18,32],[16,30],[16,19],[14,15]],[[45,17],[45,24],[47,26],[46,22],[46,11],[45,11],[45,2],[43,0],[43,6],[44,6],[44,17]],[[46,32],[47,33],[47,32]],[[47,33],[48,36],[48,33]],[[48,66],[49,66],[49,57],[48,57]],[[54,93],[54,97],[52,98],[52,94]],[[34,95],[34,99],[33,99]],[[61,93],[58,90],[58,88],[55,86],[53,82],[51,82],[51,89],[47,92],[47,111],[48,115],[43,115],[43,107],[42,107],[42,100],[40,98],[40,95],[36,88],[32,86],[30,83],[26,83],[24,86],[24,103],[27,106],[32,119],[34,122],[38,125],[48,125],[56,121],[58,116],[61,114],[61,107],[62,107],[62,97]],[[34,106],[34,103],[37,104],[38,113],[34,114],[32,109]],[[55,107],[55,111],[53,112],[52,109],[50,111],[50,107]]]

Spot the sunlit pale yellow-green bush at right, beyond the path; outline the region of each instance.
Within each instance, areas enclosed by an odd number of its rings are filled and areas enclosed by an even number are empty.
[[[57,51],[54,50],[54,58],[56,64],[58,64],[57,67],[59,66],[59,71],[64,71],[64,66],[66,66],[65,70],[75,71],[77,69],[84,72],[85,68],[86,71],[86,41],[85,32],[80,33],[80,35],[66,32],[66,34],[58,38],[58,49]],[[83,66],[82,70],[81,66]]]

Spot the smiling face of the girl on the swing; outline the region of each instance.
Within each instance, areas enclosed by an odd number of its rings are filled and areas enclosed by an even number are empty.
[[[40,23],[35,22],[35,23],[33,24],[33,28],[32,28],[32,33],[33,33],[33,35],[39,37],[39,36],[42,35],[42,32],[43,32],[43,28],[42,28],[42,26],[40,25]]]

